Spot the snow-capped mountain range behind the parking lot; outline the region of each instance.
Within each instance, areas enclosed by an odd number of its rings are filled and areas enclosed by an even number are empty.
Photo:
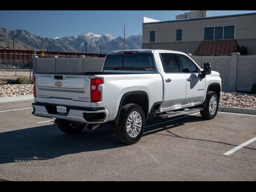
[[[86,32],[79,36],[56,37],[54,39],[36,36],[27,30],[8,30],[0,26],[0,47],[12,48],[14,38],[14,49],[18,50],[47,50],[56,52],[85,52],[107,53],[112,50],[124,49],[124,38],[115,38],[111,34],[95,34]],[[86,44],[86,45],[85,45]],[[139,49],[142,47],[142,33],[131,35],[125,39],[125,49]]]

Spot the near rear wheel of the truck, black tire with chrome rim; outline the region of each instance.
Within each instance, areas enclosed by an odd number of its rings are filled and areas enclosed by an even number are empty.
[[[135,144],[145,130],[145,114],[137,104],[126,104],[122,107],[118,125],[114,126],[116,139],[124,144]]]

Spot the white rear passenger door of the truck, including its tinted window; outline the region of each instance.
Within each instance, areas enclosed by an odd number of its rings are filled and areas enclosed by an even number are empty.
[[[186,79],[173,53],[160,53],[164,77],[163,108],[179,108],[186,99]]]

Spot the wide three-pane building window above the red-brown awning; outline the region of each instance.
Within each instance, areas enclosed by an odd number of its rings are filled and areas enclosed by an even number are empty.
[[[225,40],[235,38],[235,26],[216,26],[204,28],[204,40]]]

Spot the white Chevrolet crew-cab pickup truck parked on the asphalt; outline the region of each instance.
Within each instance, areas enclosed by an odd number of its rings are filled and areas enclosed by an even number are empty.
[[[199,112],[213,119],[221,98],[220,74],[170,50],[121,50],[107,54],[102,72],[34,74],[35,116],[56,118],[76,134],[112,125],[125,144],[140,140],[149,115],[170,118]]]

